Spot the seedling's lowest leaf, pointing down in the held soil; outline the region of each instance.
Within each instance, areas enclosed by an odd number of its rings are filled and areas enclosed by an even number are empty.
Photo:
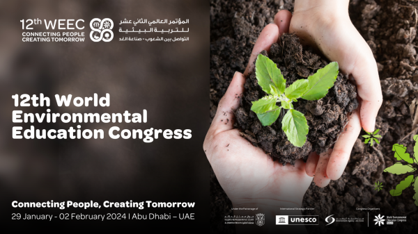
[[[294,109],[288,110],[281,121],[281,128],[295,147],[302,147],[307,141],[309,126],[301,112]]]

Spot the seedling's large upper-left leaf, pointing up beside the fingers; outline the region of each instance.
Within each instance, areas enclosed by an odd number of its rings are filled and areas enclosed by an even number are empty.
[[[286,80],[277,68],[277,65],[270,58],[259,54],[256,60],[256,78],[258,85],[264,92],[271,94],[270,85],[277,87],[279,94],[283,94],[286,87]]]

